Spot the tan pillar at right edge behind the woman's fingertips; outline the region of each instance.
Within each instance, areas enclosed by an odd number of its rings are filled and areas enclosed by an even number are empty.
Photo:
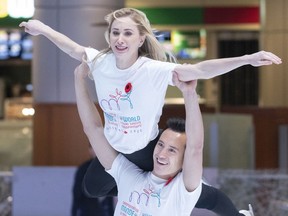
[[[281,65],[261,67],[260,106],[288,106],[288,2],[261,0],[261,47],[282,58]]]

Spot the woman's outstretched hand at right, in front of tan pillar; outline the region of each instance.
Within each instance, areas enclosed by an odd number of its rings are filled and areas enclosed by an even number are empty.
[[[278,56],[266,51],[259,51],[251,55],[247,55],[247,57],[248,62],[254,67],[282,63],[282,60]]]

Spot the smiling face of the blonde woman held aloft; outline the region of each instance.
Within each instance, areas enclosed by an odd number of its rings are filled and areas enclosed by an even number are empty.
[[[137,60],[145,36],[140,36],[137,24],[130,17],[122,17],[112,23],[109,40],[117,67],[125,69]]]

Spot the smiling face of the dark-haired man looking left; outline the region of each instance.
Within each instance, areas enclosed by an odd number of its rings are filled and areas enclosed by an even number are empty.
[[[152,173],[162,179],[174,177],[182,169],[185,144],[184,133],[165,130],[154,149]]]

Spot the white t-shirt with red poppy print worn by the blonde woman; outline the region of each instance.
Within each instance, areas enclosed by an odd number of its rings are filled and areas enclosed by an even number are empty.
[[[98,53],[86,48],[87,60],[92,61]],[[173,85],[176,64],[139,57],[131,67],[121,70],[110,53],[88,65],[104,111],[107,140],[126,154],[143,149],[158,135],[166,90]]]

